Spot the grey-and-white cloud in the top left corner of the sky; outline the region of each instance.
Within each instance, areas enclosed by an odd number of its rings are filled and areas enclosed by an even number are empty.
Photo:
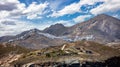
[[[21,13],[25,9],[25,4],[20,3],[18,0],[1,0],[0,1],[0,19],[4,18],[12,18],[16,16],[20,16]],[[17,14],[17,15],[14,15]]]

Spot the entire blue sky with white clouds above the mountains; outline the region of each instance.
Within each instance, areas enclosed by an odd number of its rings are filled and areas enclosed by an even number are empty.
[[[120,19],[120,0],[0,0],[0,36],[72,26],[99,14]]]

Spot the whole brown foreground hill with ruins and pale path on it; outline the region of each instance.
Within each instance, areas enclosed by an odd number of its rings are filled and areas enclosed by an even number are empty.
[[[47,62],[65,62],[66,64],[72,61],[104,62],[114,56],[120,56],[120,51],[91,41],[77,41],[27,53],[13,64],[26,66]]]

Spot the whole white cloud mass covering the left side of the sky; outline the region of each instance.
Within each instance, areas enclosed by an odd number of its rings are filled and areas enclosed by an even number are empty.
[[[34,23],[18,20],[21,17],[28,19],[42,18],[48,3],[37,4],[33,2],[28,7],[18,0],[0,0],[0,36],[16,35],[22,31],[32,28],[42,29],[45,26],[37,26]]]

